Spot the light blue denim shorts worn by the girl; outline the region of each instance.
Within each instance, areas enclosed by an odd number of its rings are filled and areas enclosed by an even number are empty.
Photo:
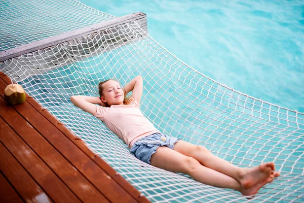
[[[158,132],[153,133],[136,141],[130,152],[139,160],[150,164],[152,154],[154,154],[160,146],[166,146],[173,149],[174,144],[180,139],[181,138],[167,136],[167,134]]]

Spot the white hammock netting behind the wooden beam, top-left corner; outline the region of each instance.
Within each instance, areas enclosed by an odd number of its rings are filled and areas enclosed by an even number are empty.
[[[0,51],[114,18],[78,1],[0,1]]]

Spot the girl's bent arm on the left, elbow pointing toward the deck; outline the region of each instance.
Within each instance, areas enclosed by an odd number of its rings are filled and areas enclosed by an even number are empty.
[[[96,105],[102,105],[100,97],[96,96],[71,96],[71,102],[81,108],[82,110],[89,112],[90,114],[96,113]]]

